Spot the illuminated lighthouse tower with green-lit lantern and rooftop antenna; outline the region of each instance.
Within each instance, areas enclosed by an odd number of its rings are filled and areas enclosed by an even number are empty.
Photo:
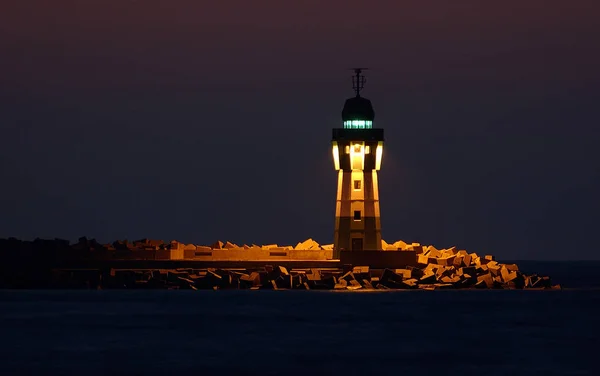
[[[364,68],[363,68],[364,69]],[[383,129],[373,128],[371,101],[360,96],[362,69],[354,69],[356,96],[346,100],[343,128],[333,129],[333,161],[338,171],[334,249],[381,250],[377,171],[381,168]]]

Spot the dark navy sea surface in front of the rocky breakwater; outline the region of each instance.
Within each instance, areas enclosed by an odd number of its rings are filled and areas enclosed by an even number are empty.
[[[0,291],[0,375],[600,375],[600,262],[562,291]]]

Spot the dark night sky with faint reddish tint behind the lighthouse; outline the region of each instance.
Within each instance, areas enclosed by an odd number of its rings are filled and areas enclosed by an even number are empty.
[[[333,242],[366,66],[383,238],[598,259],[600,3],[0,5],[0,237]]]

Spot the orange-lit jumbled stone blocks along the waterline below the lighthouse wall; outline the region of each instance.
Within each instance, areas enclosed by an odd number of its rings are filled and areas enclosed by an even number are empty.
[[[431,255],[431,252],[429,252]],[[525,275],[514,264],[491,257],[457,253],[453,258],[428,257],[427,265],[406,269],[370,270],[368,266],[345,269],[292,269],[265,266],[259,270],[179,269],[111,270],[107,288],[170,289],[560,289],[549,277]],[[422,259],[424,261],[424,259]],[[440,263],[434,263],[434,262]],[[446,265],[444,265],[446,264]],[[449,265],[448,265],[449,264]]]

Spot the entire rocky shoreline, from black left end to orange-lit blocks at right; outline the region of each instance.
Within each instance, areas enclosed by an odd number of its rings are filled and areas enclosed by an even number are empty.
[[[311,241],[311,246],[317,248]],[[308,242],[308,241],[307,241]],[[140,243],[139,244],[147,244]],[[398,243],[398,242],[397,242]],[[176,242],[172,242],[175,244]],[[303,243],[299,243],[303,245]],[[222,246],[219,244],[219,246]],[[201,267],[201,262],[191,261],[193,267],[160,268],[149,260],[145,268],[118,269],[113,266],[98,267],[106,260],[104,247],[95,241],[81,238],[70,246],[61,240],[35,240],[21,242],[0,239],[3,263],[0,265],[0,288],[87,288],[87,289],[302,289],[302,290],[439,290],[439,289],[560,289],[550,277],[525,274],[515,264],[503,264],[491,255],[480,256],[457,250],[455,247],[438,250],[404,242],[394,245],[397,250],[380,251],[414,252],[413,265],[402,269],[386,267],[375,269],[368,265],[333,263],[327,267],[307,267],[309,260],[294,260],[294,267],[273,260],[256,266],[243,261],[242,267]],[[100,253],[98,250],[101,249]],[[16,252],[15,252],[16,251]],[[115,250],[118,251],[118,250]],[[114,252],[114,251],[112,251]],[[406,253],[409,254],[409,253]],[[113,257],[116,256],[113,253]],[[61,261],[85,262],[92,267],[60,267]],[[131,259],[130,259],[131,260]],[[118,261],[118,260],[117,260]],[[135,259],[134,263],[138,263]],[[146,260],[148,261],[148,260]],[[139,261],[141,262],[141,261]],[[111,264],[112,263],[112,264]],[[195,266],[198,267],[195,267]]]

